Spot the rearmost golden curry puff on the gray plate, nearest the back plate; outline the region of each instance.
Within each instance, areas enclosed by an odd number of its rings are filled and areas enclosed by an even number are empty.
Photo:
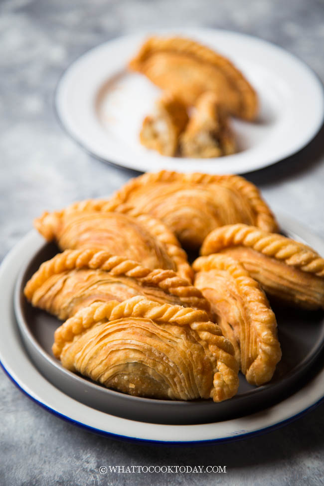
[[[187,248],[199,248],[210,231],[224,224],[278,228],[257,187],[238,175],[146,173],[117,191],[110,207],[162,219]]]

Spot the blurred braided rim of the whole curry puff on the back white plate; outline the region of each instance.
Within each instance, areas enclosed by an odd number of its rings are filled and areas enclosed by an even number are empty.
[[[158,37],[148,38],[141,46],[138,54],[129,62],[129,68],[134,71],[143,72],[143,63],[152,55],[159,52],[176,52],[188,55],[211,64],[225,74],[225,77],[235,85],[235,89],[240,93],[239,115],[248,120],[252,120],[258,109],[258,98],[256,91],[243,75],[243,73],[225,56],[218,54],[209,47],[192,39],[184,37]],[[252,103],[251,103],[252,102]],[[251,108],[252,105],[252,108]]]

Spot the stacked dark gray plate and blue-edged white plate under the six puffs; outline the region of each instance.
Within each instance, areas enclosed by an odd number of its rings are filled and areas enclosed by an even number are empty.
[[[290,219],[285,233],[324,254],[324,242]],[[34,231],[1,265],[2,366],[28,396],[51,412],[119,438],[191,443],[227,441],[260,433],[296,418],[324,395],[322,312],[275,309],[283,358],[272,381],[255,388],[240,376],[232,399],[214,403],[153,400],[108,390],[64,369],[51,353],[56,318],[32,308],[23,287],[57,249]]]

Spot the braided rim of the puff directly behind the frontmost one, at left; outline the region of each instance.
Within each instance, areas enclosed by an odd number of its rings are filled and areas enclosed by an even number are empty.
[[[195,299],[194,307],[209,311],[208,301],[191,283],[173,270],[151,270],[127,257],[114,256],[106,251],[95,249],[65,250],[50,260],[43,262],[28,280],[24,288],[25,297],[31,301],[36,290],[52,275],[68,270],[89,268],[103,270],[113,275],[124,275],[139,282],[161,288],[164,292],[190,302]]]

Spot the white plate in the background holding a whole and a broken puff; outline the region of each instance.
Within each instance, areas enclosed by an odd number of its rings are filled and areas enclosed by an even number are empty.
[[[156,33],[156,32],[155,32]],[[226,30],[162,30],[196,39],[231,59],[257,90],[256,123],[233,120],[240,152],[218,159],[163,157],[139,143],[142,121],[160,90],[127,62],[148,34],[106,42],[76,60],[56,90],[56,110],[66,131],[92,155],[124,167],[207,173],[243,173],[302,149],[323,122],[323,86],[314,72],[284,49]]]

